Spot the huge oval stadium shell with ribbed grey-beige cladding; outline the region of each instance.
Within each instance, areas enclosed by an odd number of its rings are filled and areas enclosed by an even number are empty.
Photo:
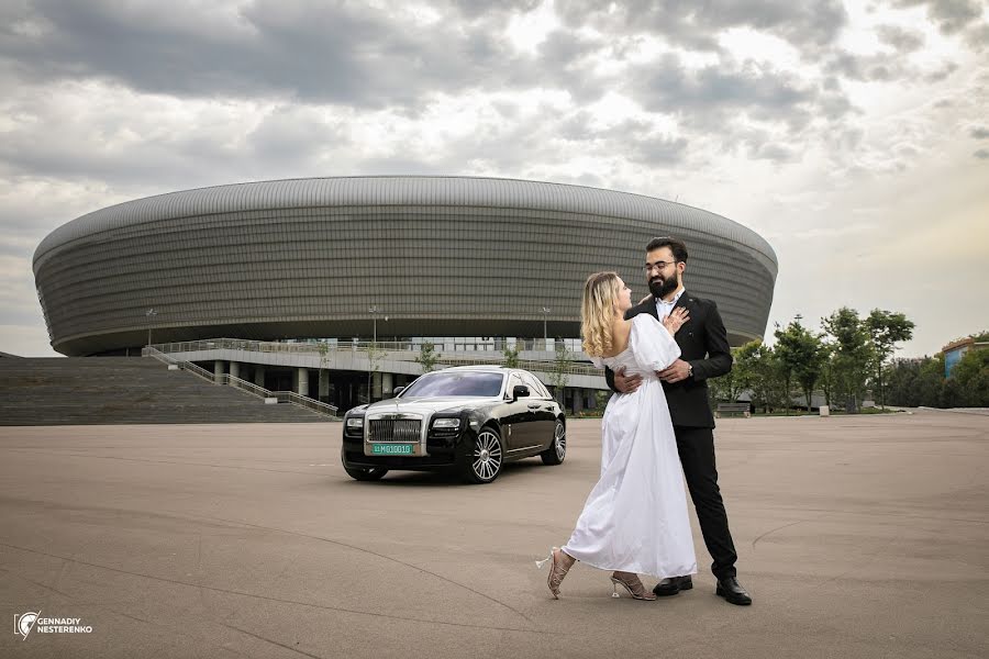
[[[173,192],[74,220],[34,272],[69,355],[216,336],[577,336],[587,275],[635,290],[656,235],[685,239],[687,284],[733,343],[765,331],[777,260],[721,215],[638,194],[511,179],[348,177]],[[146,316],[148,309],[157,314]]]

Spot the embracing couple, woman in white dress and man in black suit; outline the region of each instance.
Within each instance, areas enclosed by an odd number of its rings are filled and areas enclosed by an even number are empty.
[[[735,578],[737,556],[718,487],[705,382],[729,372],[732,356],[714,302],[685,291],[686,267],[682,242],[654,238],[643,267],[648,299],[633,306],[631,290],[614,272],[591,275],[585,284],[584,350],[607,369],[615,394],[602,420],[601,478],[570,539],[547,557],[554,597],[578,560],[613,570],[613,596],[619,587],[636,600],[692,589],[697,559],[686,477],[713,558],[715,593],[733,604],[752,603]],[[659,582],[649,592],[638,574]]]

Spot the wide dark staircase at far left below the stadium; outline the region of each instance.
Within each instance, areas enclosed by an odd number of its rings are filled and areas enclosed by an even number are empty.
[[[0,425],[321,422],[141,357],[0,359]]]

